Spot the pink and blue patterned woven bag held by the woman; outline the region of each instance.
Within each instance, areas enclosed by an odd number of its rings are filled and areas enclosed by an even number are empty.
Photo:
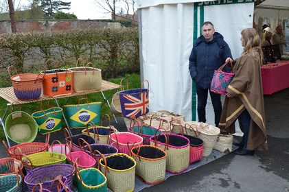
[[[231,73],[222,71],[222,69],[227,65],[231,64]],[[233,64],[230,61],[225,62],[218,70],[213,73],[213,79],[211,80],[211,92],[218,93],[222,95],[227,95],[227,87],[233,80]]]

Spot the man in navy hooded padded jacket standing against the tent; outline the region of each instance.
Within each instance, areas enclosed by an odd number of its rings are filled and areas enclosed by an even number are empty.
[[[232,58],[229,45],[218,32],[213,23],[203,23],[202,36],[198,37],[189,56],[189,73],[196,84],[198,96],[198,121],[206,122],[206,105],[208,91],[215,112],[215,124],[219,125],[222,113],[221,95],[210,91],[213,72],[219,69],[227,58]]]

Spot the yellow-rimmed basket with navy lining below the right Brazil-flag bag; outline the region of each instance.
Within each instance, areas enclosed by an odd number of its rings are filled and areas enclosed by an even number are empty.
[[[104,117],[108,117],[108,126],[102,126],[102,120]],[[89,125],[91,125],[91,127],[89,128]],[[90,136],[93,136],[93,138],[95,139],[96,143],[100,143],[100,144],[108,144],[108,135],[113,132],[113,130],[115,130],[115,132],[117,132],[117,130],[115,128],[113,128],[113,126],[111,126],[111,118],[107,115],[104,114],[102,115],[102,118],[100,120],[100,125],[95,125],[95,123],[93,123],[92,121],[89,122],[86,125],[86,129],[82,130],[82,134],[88,134]]]

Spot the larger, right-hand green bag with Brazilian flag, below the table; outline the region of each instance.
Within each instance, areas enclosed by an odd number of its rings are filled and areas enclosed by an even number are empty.
[[[80,104],[82,99],[86,100],[86,104]],[[85,97],[78,99],[77,105],[65,105],[64,110],[70,128],[86,128],[87,123],[91,121],[95,125],[100,124],[102,103],[89,103],[89,99]]]

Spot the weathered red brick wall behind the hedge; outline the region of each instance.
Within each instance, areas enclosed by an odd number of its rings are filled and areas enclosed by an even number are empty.
[[[120,27],[120,23],[107,23],[105,20],[34,20],[16,21],[17,32],[51,32],[71,29]],[[10,21],[0,21],[0,34],[11,34]]]

